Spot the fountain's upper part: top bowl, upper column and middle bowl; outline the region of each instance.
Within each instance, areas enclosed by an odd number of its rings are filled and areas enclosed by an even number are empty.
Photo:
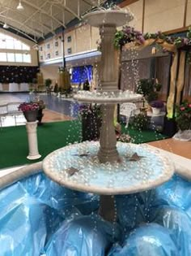
[[[122,92],[118,89],[118,61],[117,51],[113,45],[116,28],[133,20],[133,15],[127,11],[102,10],[93,11],[83,19],[94,27],[100,28],[101,62],[100,62],[100,85],[96,91],[82,91],[74,95],[79,102],[95,102],[102,104],[116,104],[121,102],[140,101],[142,95],[133,92]]]

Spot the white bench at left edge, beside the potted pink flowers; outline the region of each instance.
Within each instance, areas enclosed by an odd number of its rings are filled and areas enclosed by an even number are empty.
[[[0,105],[0,125],[2,128],[2,118],[6,116],[14,116],[15,125],[17,125],[17,115],[23,115],[22,111],[19,111],[18,107],[21,102],[11,102],[4,105]]]

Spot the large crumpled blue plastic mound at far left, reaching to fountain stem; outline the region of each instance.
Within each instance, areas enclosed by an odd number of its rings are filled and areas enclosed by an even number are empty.
[[[49,237],[71,213],[97,210],[98,197],[63,188],[40,173],[0,192],[0,255],[44,254]]]

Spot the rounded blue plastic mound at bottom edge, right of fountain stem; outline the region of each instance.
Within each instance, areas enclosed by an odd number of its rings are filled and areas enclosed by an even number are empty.
[[[109,256],[179,256],[172,232],[155,223],[134,230],[123,247],[113,246]]]

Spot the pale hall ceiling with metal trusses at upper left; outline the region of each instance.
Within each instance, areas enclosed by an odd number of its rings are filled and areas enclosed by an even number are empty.
[[[18,10],[19,2],[23,10]],[[7,24],[15,33],[33,41],[66,28],[71,20],[81,20],[81,15],[105,0],[0,0],[0,24]]]

